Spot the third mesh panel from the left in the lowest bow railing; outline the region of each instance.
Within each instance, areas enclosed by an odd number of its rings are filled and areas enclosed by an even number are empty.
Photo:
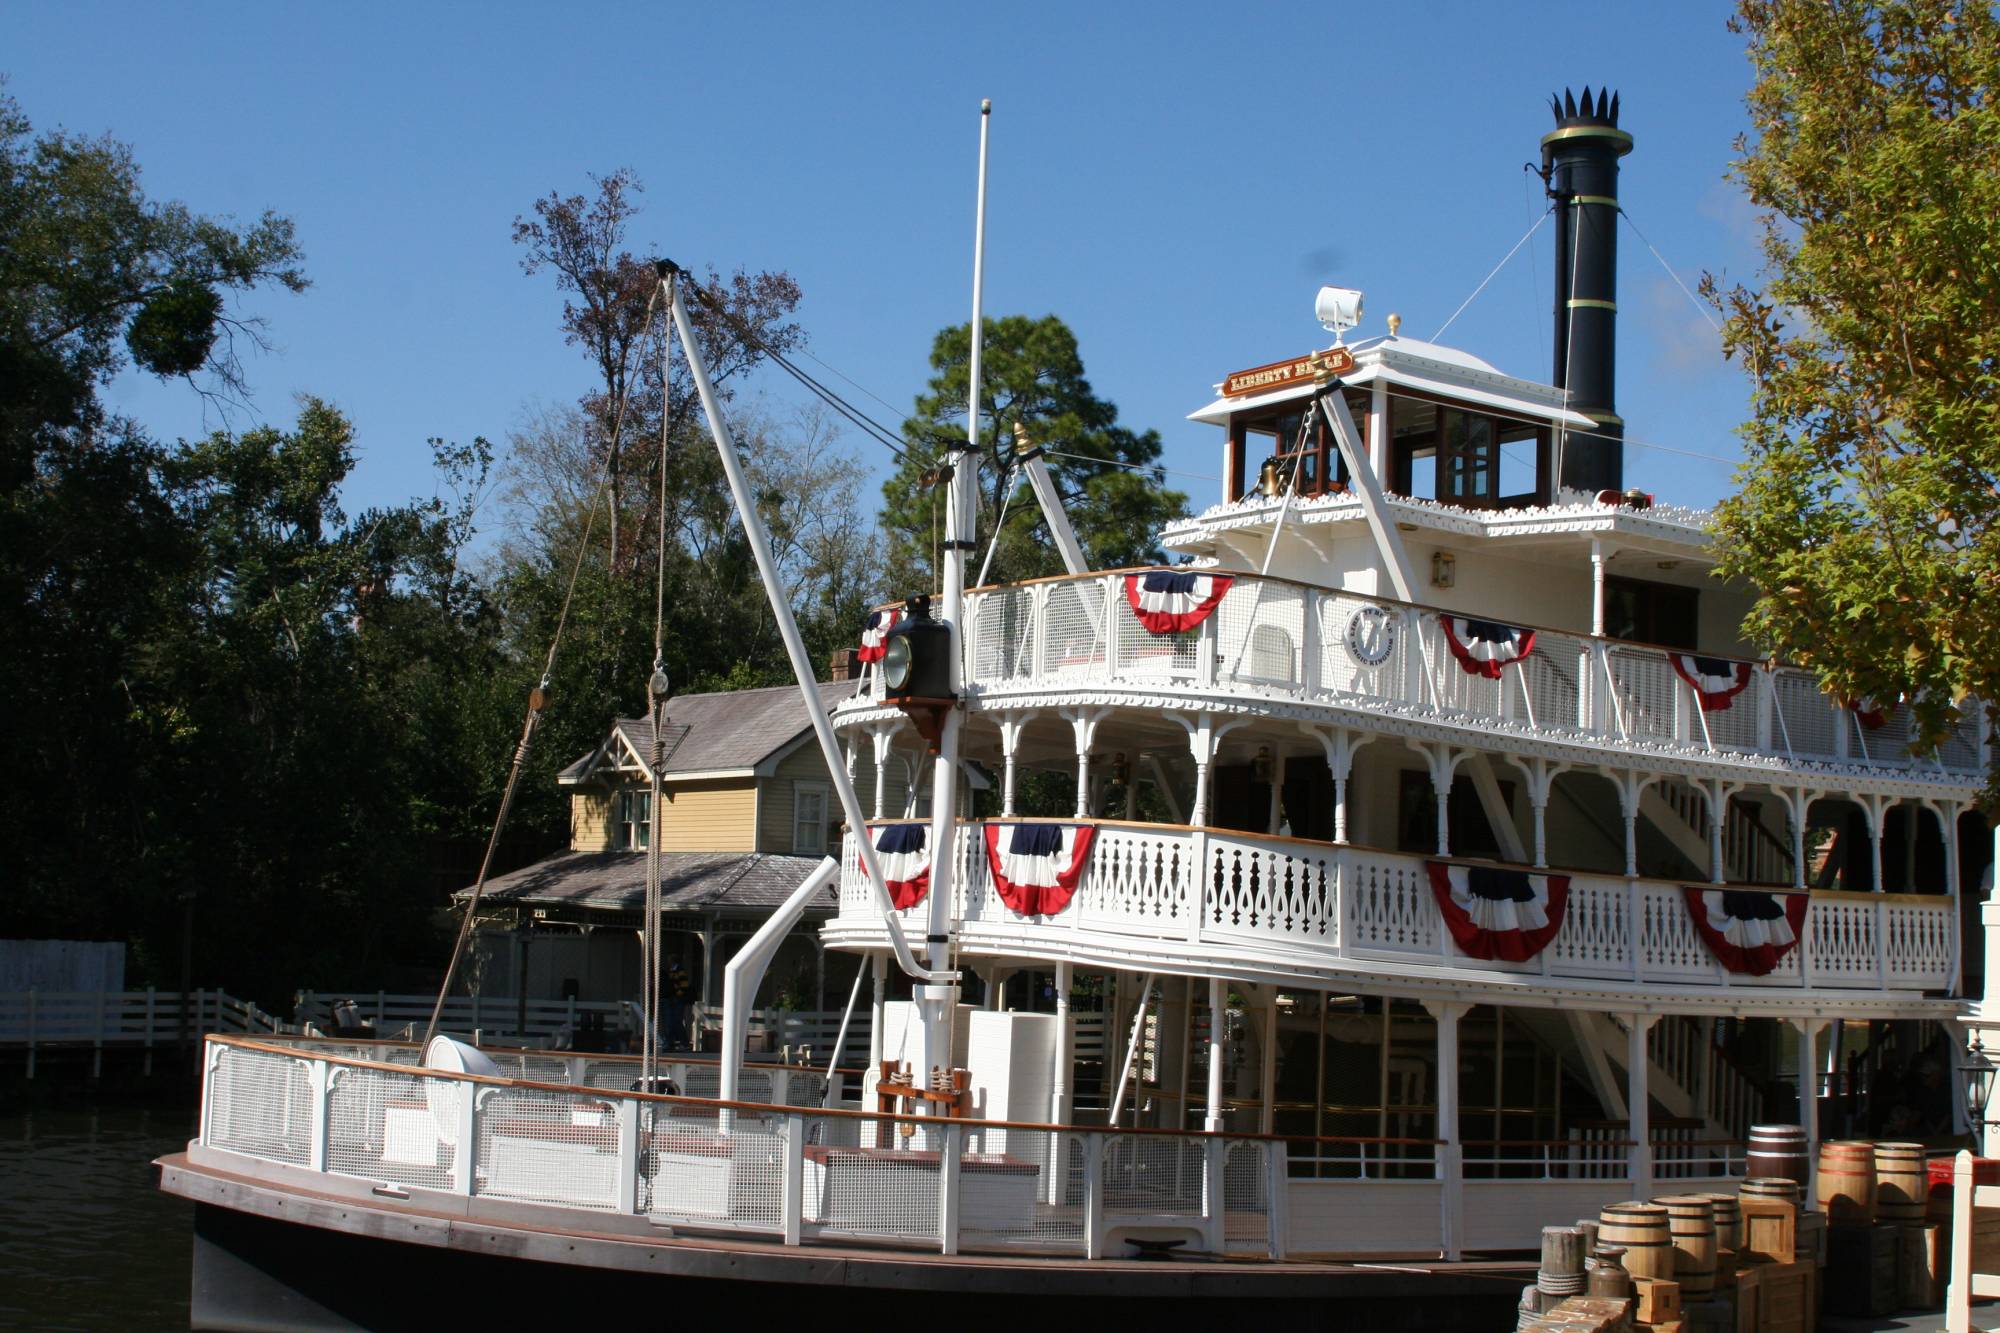
[[[612,1103],[540,1089],[480,1087],[478,1097],[472,1193],[582,1209],[618,1207]]]

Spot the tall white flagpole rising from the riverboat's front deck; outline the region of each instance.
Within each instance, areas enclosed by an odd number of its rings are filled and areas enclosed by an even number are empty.
[[[980,352],[984,346],[984,300],[986,300],[986,132],[992,126],[994,104],[980,102],[980,182],[978,204],[972,224],[972,358],[966,366],[970,384],[966,388],[966,438],[950,446],[950,480],[944,492],[944,622],[952,628],[952,695],[960,703],[944,715],[938,733],[938,757],[930,777],[930,929],[926,933],[924,961],[932,973],[950,971],[952,965],[952,871],[956,869],[958,837],[958,743],[964,727],[964,610],[966,610],[966,560],[978,546],[974,538],[974,516],[978,514],[980,484]],[[958,1005],[958,987],[924,985],[918,987],[918,1009],[922,1013],[922,1057],[918,1077],[930,1075],[948,1079],[960,1053],[952,1051],[952,1011]]]

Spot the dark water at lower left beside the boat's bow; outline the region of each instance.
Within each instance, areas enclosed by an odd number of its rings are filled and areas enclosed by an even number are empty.
[[[194,1205],[152,1159],[192,1109],[0,1111],[0,1329],[186,1329]]]

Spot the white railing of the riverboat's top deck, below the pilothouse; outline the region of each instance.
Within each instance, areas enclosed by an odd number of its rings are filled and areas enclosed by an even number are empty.
[[[1360,616],[1360,622],[1356,622]],[[1368,628],[1364,660],[1348,628]],[[1124,574],[1086,574],[966,594],[966,681],[980,695],[1078,687],[1174,687],[1392,707],[1440,721],[1648,743],[1706,755],[1944,771],[1976,781],[1986,735],[1968,709],[1934,755],[1908,753],[1910,709],[1882,727],[1826,699],[1810,673],[1752,662],[1732,707],[1704,713],[1662,648],[1538,630],[1498,681],[1466,675],[1440,612],[1236,574],[1196,630],[1154,636],[1132,614]]]

